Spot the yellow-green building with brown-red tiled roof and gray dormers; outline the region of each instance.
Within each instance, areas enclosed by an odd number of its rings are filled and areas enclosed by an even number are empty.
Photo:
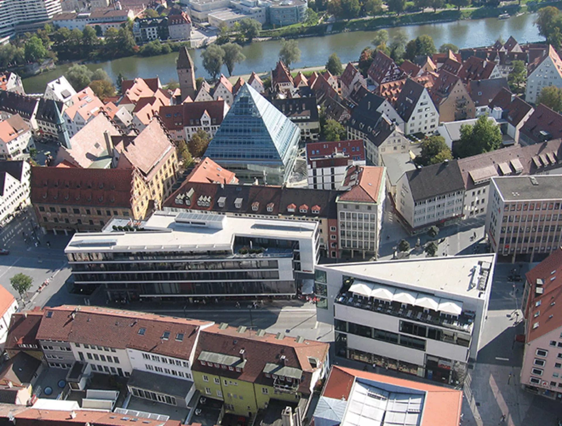
[[[215,324],[201,331],[192,366],[202,396],[252,416],[270,400],[309,398],[328,369],[328,343]]]

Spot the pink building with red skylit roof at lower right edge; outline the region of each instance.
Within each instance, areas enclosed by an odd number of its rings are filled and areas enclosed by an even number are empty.
[[[520,383],[523,389],[562,400],[562,248],[531,269],[525,280],[522,310],[525,346]]]

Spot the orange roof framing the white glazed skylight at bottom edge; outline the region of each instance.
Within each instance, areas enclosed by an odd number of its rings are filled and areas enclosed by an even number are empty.
[[[463,391],[450,389],[433,384],[398,379],[382,374],[345,368],[333,365],[322,396],[337,400],[348,400],[351,387],[356,378],[388,383],[404,388],[425,391],[420,426],[458,426],[463,407]]]

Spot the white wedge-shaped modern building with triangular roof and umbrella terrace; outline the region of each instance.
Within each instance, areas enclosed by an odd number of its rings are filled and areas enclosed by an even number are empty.
[[[336,355],[441,383],[476,359],[495,255],[318,265],[318,321]]]

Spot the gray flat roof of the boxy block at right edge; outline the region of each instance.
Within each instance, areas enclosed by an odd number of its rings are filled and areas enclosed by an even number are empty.
[[[505,201],[560,200],[562,176],[533,175],[492,178]]]

